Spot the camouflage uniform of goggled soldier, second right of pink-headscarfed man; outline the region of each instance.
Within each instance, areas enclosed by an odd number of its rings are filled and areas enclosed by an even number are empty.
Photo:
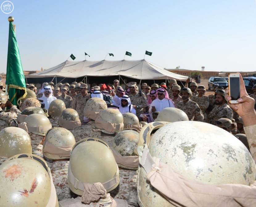
[[[188,116],[188,120],[190,121],[204,120],[204,115],[198,104],[196,104],[196,102],[194,101],[191,101],[190,99],[188,99],[188,102],[186,104],[184,104],[184,101],[180,101],[177,105],[177,108],[184,111]]]

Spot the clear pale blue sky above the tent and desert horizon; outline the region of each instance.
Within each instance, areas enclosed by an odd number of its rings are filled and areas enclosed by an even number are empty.
[[[2,4],[5,0],[0,0]],[[13,16],[24,71],[85,59],[139,60],[173,69],[256,71],[255,0],[10,0],[0,10],[0,73]],[[8,3],[8,2],[6,2]],[[125,56],[128,51],[132,56]]]

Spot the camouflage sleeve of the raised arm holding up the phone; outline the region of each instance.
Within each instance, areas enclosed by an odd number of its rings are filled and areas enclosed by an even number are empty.
[[[244,127],[246,138],[250,147],[251,155],[256,163],[256,125],[251,125],[248,127]]]

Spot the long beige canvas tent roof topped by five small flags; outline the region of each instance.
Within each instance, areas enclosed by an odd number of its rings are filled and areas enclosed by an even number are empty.
[[[184,75],[169,72],[147,60],[101,60],[69,61],[38,73],[26,75],[26,78],[123,75],[134,79],[177,79],[186,80]]]

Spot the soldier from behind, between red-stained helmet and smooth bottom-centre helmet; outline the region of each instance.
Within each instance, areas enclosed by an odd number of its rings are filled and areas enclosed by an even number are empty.
[[[59,201],[75,197],[68,187],[70,151],[75,144],[72,133],[61,127],[48,130],[43,143],[43,156],[52,161],[50,169]]]

